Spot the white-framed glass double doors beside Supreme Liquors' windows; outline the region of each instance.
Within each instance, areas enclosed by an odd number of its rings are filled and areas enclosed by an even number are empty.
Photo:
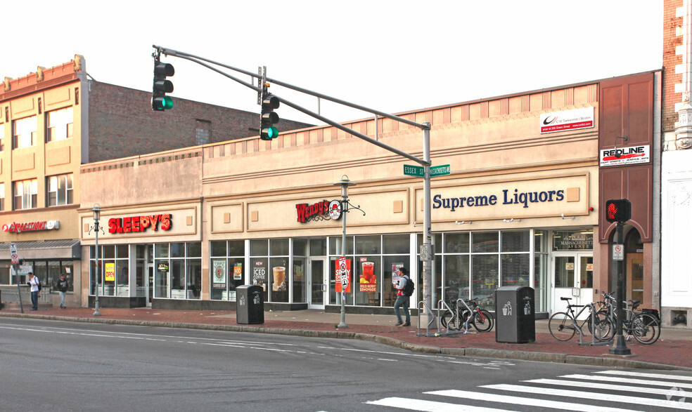
[[[562,297],[572,298],[572,305],[585,305],[594,300],[594,255],[591,252],[564,252],[553,254],[553,299],[551,313],[567,310]],[[582,317],[588,316],[588,311]]]

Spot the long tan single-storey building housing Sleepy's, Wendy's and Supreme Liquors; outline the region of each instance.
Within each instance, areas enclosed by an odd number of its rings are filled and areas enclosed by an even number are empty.
[[[542,315],[562,310],[562,296],[598,300],[617,272],[605,201],[628,198],[624,262],[637,270],[627,298],[658,307],[661,84],[653,71],[400,114],[431,124],[432,164],[450,165],[432,179],[433,302],[494,308],[499,286],[532,286]],[[423,147],[422,131],[391,119],[346,126],[411,154]],[[94,300],[99,204],[102,305],[233,308],[236,286],[259,284],[267,307],[336,311],[342,222],[328,204],[345,175],[364,212],[347,215],[348,310],[389,311],[399,265],[418,302],[423,181],[404,174],[407,163],[318,126],[84,164],[82,305]]]

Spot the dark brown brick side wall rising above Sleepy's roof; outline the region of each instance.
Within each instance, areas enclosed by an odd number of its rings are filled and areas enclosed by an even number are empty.
[[[257,112],[173,98],[165,112],[151,109],[151,93],[91,81],[89,91],[89,161],[161,152],[197,145],[197,120],[210,121],[210,142],[256,136]],[[281,131],[309,125],[281,119]]]

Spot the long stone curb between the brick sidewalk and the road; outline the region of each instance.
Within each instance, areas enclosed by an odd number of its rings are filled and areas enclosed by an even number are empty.
[[[357,339],[369,342],[381,343],[392,347],[411,350],[414,352],[430,354],[449,354],[463,357],[482,357],[496,359],[515,359],[519,361],[538,361],[553,362],[556,364],[575,364],[602,367],[636,368],[636,369],[655,369],[660,371],[692,371],[686,366],[675,366],[666,364],[655,364],[645,361],[634,361],[632,359],[618,359],[616,357],[586,357],[570,354],[556,354],[546,352],[523,352],[518,350],[483,349],[480,347],[434,347],[417,345],[415,343],[404,342],[387,336],[373,335],[371,333],[357,333],[344,331],[314,331],[309,329],[288,329],[288,328],[262,328],[259,326],[236,326],[236,325],[207,325],[207,324],[184,324],[179,322],[162,321],[131,321],[127,319],[98,319],[84,317],[59,317],[54,315],[40,314],[21,314],[21,313],[0,313],[0,317],[15,317],[27,319],[44,319],[50,321],[70,321],[91,324],[116,324],[132,326],[148,326],[158,328],[181,328],[198,329],[207,331],[227,331],[243,333],[265,333],[269,335],[290,335],[305,336],[307,338],[331,338],[331,339]]]

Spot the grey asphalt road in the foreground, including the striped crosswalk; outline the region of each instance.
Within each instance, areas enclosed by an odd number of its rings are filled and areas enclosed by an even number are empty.
[[[39,319],[0,319],[0,368],[0,411],[692,409],[692,373],[611,376],[361,340]]]

